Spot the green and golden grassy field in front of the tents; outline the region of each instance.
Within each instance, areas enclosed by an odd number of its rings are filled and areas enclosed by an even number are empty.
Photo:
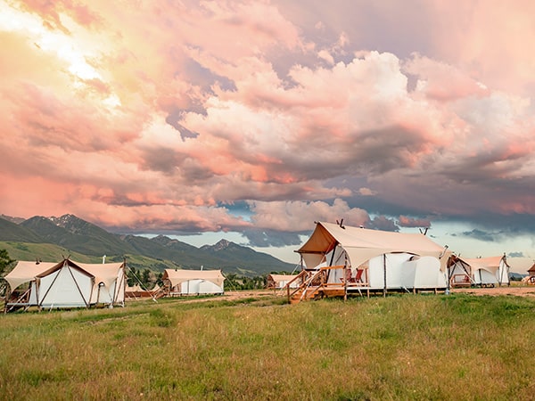
[[[0,315],[0,399],[528,400],[534,314],[456,294]]]

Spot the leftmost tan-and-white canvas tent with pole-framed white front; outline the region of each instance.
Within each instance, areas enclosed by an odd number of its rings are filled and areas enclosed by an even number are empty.
[[[6,311],[16,308],[71,308],[124,305],[126,263],[87,264],[20,261],[5,275]]]

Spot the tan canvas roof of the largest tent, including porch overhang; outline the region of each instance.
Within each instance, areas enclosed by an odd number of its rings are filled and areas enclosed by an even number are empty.
[[[352,266],[359,266],[370,258],[392,252],[436,258],[442,254],[449,257],[451,254],[421,233],[394,233],[324,222],[317,223],[309,241],[298,252],[325,255],[338,244],[348,252]],[[444,265],[447,259],[444,258]]]

